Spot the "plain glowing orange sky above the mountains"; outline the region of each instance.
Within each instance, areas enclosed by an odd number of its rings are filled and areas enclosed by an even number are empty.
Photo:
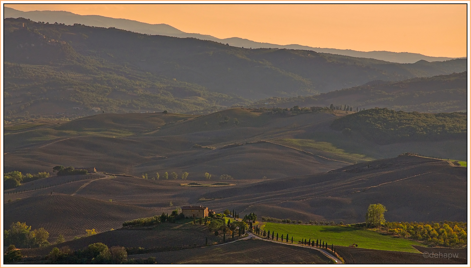
[[[169,24],[280,45],[463,57],[466,4],[6,4]]]

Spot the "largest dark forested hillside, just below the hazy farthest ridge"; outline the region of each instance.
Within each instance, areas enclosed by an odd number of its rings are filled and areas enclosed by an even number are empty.
[[[208,113],[272,96],[313,95],[466,68],[306,50],[250,49],[80,24],[5,19],[7,120],[106,112]],[[72,110],[75,108],[74,110]]]

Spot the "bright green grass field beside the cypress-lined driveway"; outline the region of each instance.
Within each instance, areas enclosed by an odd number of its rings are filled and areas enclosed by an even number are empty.
[[[267,222],[265,230],[275,231],[279,237],[282,234],[286,237],[293,236],[293,243],[306,239],[321,239],[329,245],[348,246],[358,244],[358,247],[378,250],[402,251],[420,253],[412,245],[421,245],[422,243],[410,241],[404,238],[397,238],[389,235],[383,235],[374,231],[355,229],[343,226],[319,226],[319,225],[300,225],[300,224],[281,224]],[[291,238],[289,238],[291,240]]]

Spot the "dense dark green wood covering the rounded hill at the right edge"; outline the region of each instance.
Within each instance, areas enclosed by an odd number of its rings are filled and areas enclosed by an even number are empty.
[[[467,117],[457,112],[419,113],[374,108],[333,121],[331,127],[357,131],[378,144],[406,140],[466,137]]]

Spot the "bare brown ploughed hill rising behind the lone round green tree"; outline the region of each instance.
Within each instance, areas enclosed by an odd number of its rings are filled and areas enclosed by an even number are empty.
[[[466,168],[448,161],[400,156],[221,189],[206,197],[222,198],[201,204],[292,220],[362,222],[368,205],[381,203],[387,221],[466,221],[466,181]]]

